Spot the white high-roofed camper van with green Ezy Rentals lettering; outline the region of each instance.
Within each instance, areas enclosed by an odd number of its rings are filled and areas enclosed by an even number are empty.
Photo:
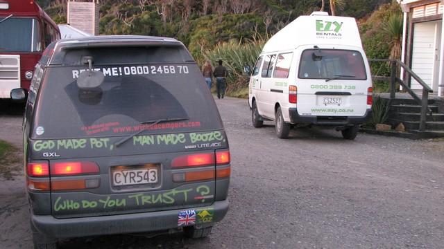
[[[279,138],[315,125],[355,139],[371,116],[372,79],[354,18],[298,17],[268,40],[250,73],[253,126],[274,120]]]

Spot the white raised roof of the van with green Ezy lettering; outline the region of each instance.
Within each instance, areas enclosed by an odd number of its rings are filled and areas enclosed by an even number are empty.
[[[362,48],[355,18],[300,16],[273,35],[262,53],[291,50],[302,45],[345,45]]]

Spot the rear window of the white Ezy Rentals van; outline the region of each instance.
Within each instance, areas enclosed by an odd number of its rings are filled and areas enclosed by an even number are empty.
[[[302,52],[300,79],[367,80],[361,53],[355,50],[307,49]]]

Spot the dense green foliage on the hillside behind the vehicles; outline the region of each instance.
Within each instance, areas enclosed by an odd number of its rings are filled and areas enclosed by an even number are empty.
[[[387,35],[381,22],[386,12],[399,9],[393,0],[347,0],[336,6],[336,15],[351,16],[361,21],[363,44],[368,57],[390,55]],[[58,23],[67,21],[67,0],[37,0]],[[325,11],[330,12],[325,0]],[[246,47],[250,58],[261,50],[259,37],[270,37],[299,15],[321,8],[322,0],[99,0],[100,33],[103,35],[154,35],[175,37],[202,63],[204,59],[225,58],[230,61]],[[379,8],[379,6],[382,6]],[[369,17],[375,9],[377,14]],[[256,41],[256,42],[254,42]],[[224,44],[226,43],[226,44]],[[232,48],[233,50],[230,50]],[[253,52],[257,51],[257,52]],[[226,54],[224,54],[226,53]],[[253,64],[248,61],[244,64]],[[253,59],[254,60],[254,59]],[[229,82],[241,86],[241,62],[230,62]],[[373,71],[386,73],[386,66],[373,66]],[[237,87],[231,87],[236,89]]]

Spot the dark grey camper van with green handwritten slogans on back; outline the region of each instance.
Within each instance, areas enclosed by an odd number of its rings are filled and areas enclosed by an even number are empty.
[[[219,111],[181,42],[61,40],[25,100],[35,248],[59,238],[183,230],[206,237],[228,211],[230,151]]]

